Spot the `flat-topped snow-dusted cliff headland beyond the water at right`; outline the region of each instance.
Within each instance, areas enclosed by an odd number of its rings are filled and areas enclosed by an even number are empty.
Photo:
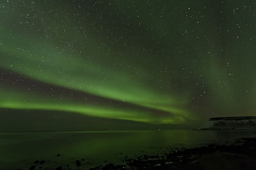
[[[210,125],[203,129],[256,129],[256,117],[218,117],[210,118]]]

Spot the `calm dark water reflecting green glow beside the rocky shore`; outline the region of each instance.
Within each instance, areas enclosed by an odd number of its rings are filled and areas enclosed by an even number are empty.
[[[63,166],[77,159],[104,164],[120,163],[125,155],[138,157],[168,152],[170,148],[223,143],[236,138],[256,137],[255,131],[91,131],[26,132],[0,134],[0,169],[28,168],[35,160]],[[56,154],[60,153],[60,157]]]

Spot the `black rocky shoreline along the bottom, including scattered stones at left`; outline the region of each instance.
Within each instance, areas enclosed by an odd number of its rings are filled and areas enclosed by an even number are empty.
[[[164,155],[141,155],[130,159],[124,155],[124,164],[105,164],[92,167],[84,159],[62,166],[49,167],[45,160],[35,160],[33,169],[256,169],[256,138],[236,139],[225,145],[211,144],[197,148],[174,148]],[[60,155],[59,155],[60,156]],[[49,161],[50,162],[50,161]],[[90,167],[90,168],[89,168]]]

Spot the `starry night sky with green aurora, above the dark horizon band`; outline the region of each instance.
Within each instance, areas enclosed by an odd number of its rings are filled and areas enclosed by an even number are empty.
[[[1,117],[253,116],[255,15],[254,0],[0,1]]]

